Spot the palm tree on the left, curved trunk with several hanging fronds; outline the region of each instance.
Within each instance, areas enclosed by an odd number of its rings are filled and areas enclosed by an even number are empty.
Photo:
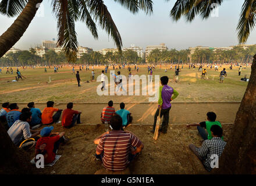
[[[17,41],[20,40],[24,32],[29,27],[43,0],[2,0],[0,3],[0,13],[8,17],[17,16],[15,22],[0,36],[0,58]],[[113,0],[120,3],[131,13],[138,13],[144,10],[148,15],[152,13],[151,0]],[[75,22],[81,21],[98,39],[97,27],[95,22],[103,28],[106,33],[111,35],[116,46],[121,51],[122,39],[119,34],[111,14],[108,12],[102,0],[52,0],[52,12],[55,15],[58,26],[58,46],[65,50],[66,58],[70,62],[77,58],[77,37]]]

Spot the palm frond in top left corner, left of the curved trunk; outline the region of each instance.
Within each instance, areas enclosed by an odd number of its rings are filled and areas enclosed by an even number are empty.
[[[8,17],[14,17],[19,15],[28,0],[2,0],[0,2],[0,13],[7,15]]]

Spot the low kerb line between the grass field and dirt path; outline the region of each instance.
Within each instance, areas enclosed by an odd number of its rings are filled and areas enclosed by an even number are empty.
[[[3,102],[0,102],[2,104]],[[27,104],[27,102],[16,102],[17,104]],[[120,104],[121,102],[115,102],[115,104]],[[172,102],[172,104],[207,104],[207,103],[241,103],[241,102]],[[35,104],[46,104],[46,102],[35,102]],[[55,102],[55,105],[67,104],[67,102]],[[108,104],[108,102],[73,102],[76,105],[83,105],[83,104]],[[158,104],[158,102],[126,102],[126,104]]]

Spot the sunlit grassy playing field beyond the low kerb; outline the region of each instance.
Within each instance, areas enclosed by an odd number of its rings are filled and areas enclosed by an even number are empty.
[[[16,68],[13,68],[14,72]],[[101,74],[103,67],[95,69],[95,78]],[[109,67],[111,70],[112,67]],[[247,75],[250,77],[250,67],[244,69],[241,76],[238,76],[238,67],[233,70],[227,69],[227,77],[223,84],[219,83],[219,71],[208,70],[208,80],[201,79],[201,73],[196,70],[189,69],[187,66],[180,72],[180,81],[175,83],[173,80],[174,66],[165,73],[165,67],[158,66],[158,69],[153,71],[153,75],[168,76],[170,78],[169,85],[175,88],[179,93],[179,97],[173,102],[237,102],[243,98],[244,91],[247,87],[247,82],[240,81],[241,77]],[[76,70],[79,67],[76,66]],[[15,79],[15,74],[5,74],[6,69],[0,74],[0,102],[47,102],[49,100],[55,102],[147,102],[148,96],[99,96],[96,89],[100,82],[86,83],[91,80],[91,69],[80,72],[81,87],[77,87],[76,77],[72,74],[71,67],[59,69],[58,73],[54,74],[53,68],[47,69],[44,73],[44,68],[38,69],[20,69],[24,80],[19,82],[11,82]],[[117,71],[117,70],[116,70]],[[121,74],[127,76],[127,69],[120,70]],[[140,66],[139,73],[131,66],[133,75],[148,75],[147,67]],[[108,77],[110,76],[108,71]],[[47,83],[51,76],[52,83]],[[128,79],[128,78],[127,78]],[[128,86],[127,86],[128,87]]]

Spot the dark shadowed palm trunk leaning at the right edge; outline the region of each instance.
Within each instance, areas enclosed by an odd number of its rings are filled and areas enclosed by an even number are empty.
[[[256,174],[256,55],[251,66],[251,76],[229,140],[222,153],[221,174]],[[214,171],[214,172],[215,172]]]

